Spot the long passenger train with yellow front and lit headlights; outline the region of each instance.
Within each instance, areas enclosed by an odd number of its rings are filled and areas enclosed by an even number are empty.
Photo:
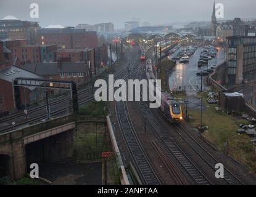
[[[146,63],[146,77],[147,79],[155,79],[154,73],[152,71],[152,60],[147,59]],[[156,79],[155,79],[156,80]],[[155,82],[154,82],[155,86]],[[163,115],[170,119],[171,121],[182,121],[183,111],[179,102],[174,100],[167,92],[161,91],[161,105],[160,110]]]

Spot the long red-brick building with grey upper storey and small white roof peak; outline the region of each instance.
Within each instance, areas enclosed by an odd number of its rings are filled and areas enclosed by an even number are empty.
[[[96,31],[74,28],[43,28],[37,31],[38,45],[57,44],[58,49],[86,49],[97,47]]]

